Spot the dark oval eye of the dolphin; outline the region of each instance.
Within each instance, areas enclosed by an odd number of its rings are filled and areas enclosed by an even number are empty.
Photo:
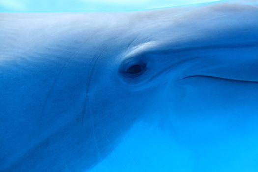
[[[127,78],[134,78],[142,75],[147,70],[145,63],[132,64],[123,72]]]

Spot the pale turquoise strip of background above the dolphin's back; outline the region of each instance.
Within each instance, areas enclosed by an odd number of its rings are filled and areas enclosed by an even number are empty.
[[[132,11],[219,0],[0,0],[0,12]]]

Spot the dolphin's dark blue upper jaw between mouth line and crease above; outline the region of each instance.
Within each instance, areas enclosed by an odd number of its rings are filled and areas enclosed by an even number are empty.
[[[179,80],[209,77],[241,82],[258,82],[258,47],[206,52],[189,64]]]

